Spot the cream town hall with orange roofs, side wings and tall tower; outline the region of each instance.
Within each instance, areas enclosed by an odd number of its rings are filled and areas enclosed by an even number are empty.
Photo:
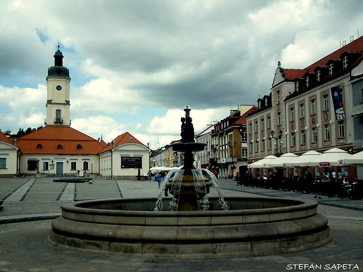
[[[149,148],[130,133],[106,144],[71,128],[70,82],[63,54],[54,54],[47,75],[45,127],[17,139],[0,132],[0,176],[91,176],[135,179],[149,172]]]

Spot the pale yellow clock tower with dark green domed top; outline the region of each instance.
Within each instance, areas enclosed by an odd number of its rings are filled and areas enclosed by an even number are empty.
[[[71,77],[68,68],[63,66],[63,57],[58,45],[58,50],[54,54],[54,66],[48,68],[45,126],[71,126],[69,102]]]

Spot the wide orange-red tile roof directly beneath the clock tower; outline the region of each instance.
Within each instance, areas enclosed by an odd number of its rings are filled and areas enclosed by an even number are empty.
[[[61,146],[61,148],[60,148]],[[23,154],[94,155],[103,147],[94,138],[71,127],[45,126],[17,141]]]

